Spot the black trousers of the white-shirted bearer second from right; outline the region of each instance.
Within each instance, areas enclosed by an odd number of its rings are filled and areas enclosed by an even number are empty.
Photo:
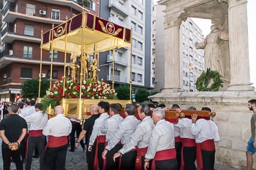
[[[196,147],[183,147],[184,170],[196,170]]]

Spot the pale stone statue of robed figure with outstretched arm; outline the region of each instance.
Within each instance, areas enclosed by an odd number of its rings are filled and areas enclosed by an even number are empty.
[[[228,40],[227,31],[219,31],[216,25],[212,25],[211,33],[206,36],[203,42],[195,42],[195,47],[197,49],[205,49],[206,68],[216,70],[224,77],[224,66],[222,66],[222,55],[219,49],[222,40]]]

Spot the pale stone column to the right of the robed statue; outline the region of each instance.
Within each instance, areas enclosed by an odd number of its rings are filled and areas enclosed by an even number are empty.
[[[227,90],[253,90],[249,82],[246,0],[228,1],[230,84]]]

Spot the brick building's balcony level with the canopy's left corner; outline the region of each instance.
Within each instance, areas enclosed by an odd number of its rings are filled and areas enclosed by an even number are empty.
[[[1,30],[1,42],[12,43],[15,40],[40,43],[41,37],[28,36],[25,34],[16,34],[15,32],[13,32],[12,27],[9,26],[4,28],[4,30]]]

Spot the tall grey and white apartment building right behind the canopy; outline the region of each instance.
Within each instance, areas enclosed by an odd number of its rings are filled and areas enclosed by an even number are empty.
[[[99,78],[112,82],[113,58],[115,85],[129,85],[132,65],[132,92],[137,88],[154,87],[151,0],[105,0],[100,3],[100,18],[132,28],[130,47],[110,50],[99,55]],[[114,57],[113,57],[114,53]],[[131,58],[132,56],[132,58]],[[132,62],[132,64],[131,64]],[[107,73],[107,74],[106,74]]]

